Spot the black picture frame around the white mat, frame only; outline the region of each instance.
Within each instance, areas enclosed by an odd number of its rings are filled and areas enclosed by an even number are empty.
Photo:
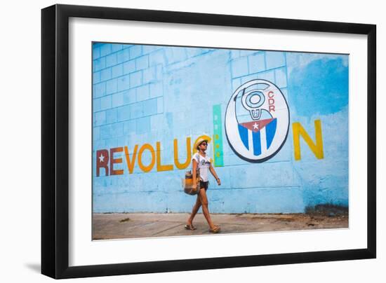
[[[367,248],[69,267],[69,18],[137,20],[367,36]],[[41,10],[41,273],[56,279],[376,257],[376,26],[129,8]]]

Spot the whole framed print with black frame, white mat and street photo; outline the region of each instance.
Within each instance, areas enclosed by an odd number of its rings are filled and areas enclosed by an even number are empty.
[[[43,274],[375,258],[375,25],[41,15]]]

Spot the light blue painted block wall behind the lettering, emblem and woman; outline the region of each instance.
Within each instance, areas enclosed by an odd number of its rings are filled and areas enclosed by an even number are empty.
[[[290,130],[279,153],[265,163],[248,163],[230,149],[223,134],[222,180],[211,177],[214,213],[290,213],[333,203],[348,206],[348,57],[305,53],[93,44],[93,211],[190,212],[195,198],[182,192],[185,170],[144,173],[135,163],[128,174],[96,177],[96,151],[161,142],[163,164],[173,164],[173,139],[185,160],[186,137],[213,134],[213,105],[220,104],[222,127],[233,91],[253,78],[275,83],[287,99]],[[195,109],[194,111],[192,109]],[[292,123],[314,139],[321,120],[324,159],[300,138],[295,160]],[[148,153],[148,152],[147,152]],[[213,156],[209,146],[208,154]],[[149,154],[144,154],[148,163]],[[190,168],[190,167],[189,167]]]

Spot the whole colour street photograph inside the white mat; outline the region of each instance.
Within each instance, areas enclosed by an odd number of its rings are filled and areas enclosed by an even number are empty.
[[[348,69],[340,54],[93,43],[93,239],[347,228]],[[252,223],[283,215],[305,220]]]

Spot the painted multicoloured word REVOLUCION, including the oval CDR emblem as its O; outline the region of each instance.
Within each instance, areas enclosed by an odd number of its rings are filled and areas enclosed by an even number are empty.
[[[224,166],[222,155],[221,105],[213,105],[213,137],[203,135],[213,145],[213,165]],[[276,85],[265,80],[253,80],[239,86],[230,97],[225,111],[225,133],[229,146],[240,158],[261,163],[277,154],[286,142],[289,130],[289,109],[286,98]],[[324,158],[321,120],[314,120],[315,139],[312,139],[298,122],[292,124],[293,149],[295,160],[301,159],[300,137],[317,159]],[[196,141],[200,138],[197,137]],[[315,140],[315,141],[314,141]],[[142,172],[157,172],[186,169],[190,166],[192,153],[196,150],[196,141],[192,145],[191,137],[185,140],[186,157],[180,160],[178,139],[173,144],[173,164],[161,160],[161,143],[135,144],[129,151],[128,146],[96,151],[96,177],[124,174],[126,163],[128,174],[133,174],[135,164]],[[154,149],[155,147],[155,149]],[[124,158],[114,157],[115,153],[124,153]],[[143,160],[143,154],[150,158]],[[150,154],[149,154],[150,153]],[[103,176],[103,174],[102,174]]]

